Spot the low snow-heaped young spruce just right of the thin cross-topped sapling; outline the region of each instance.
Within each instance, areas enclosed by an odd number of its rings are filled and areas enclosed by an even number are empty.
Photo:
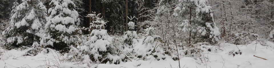
[[[156,27],[149,27],[144,29],[145,37],[142,39],[142,44],[135,44],[133,49],[137,58],[144,58],[145,60],[155,58],[157,60],[165,59],[164,51],[159,41],[162,37],[154,35]],[[140,43],[140,42],[139,42]]]

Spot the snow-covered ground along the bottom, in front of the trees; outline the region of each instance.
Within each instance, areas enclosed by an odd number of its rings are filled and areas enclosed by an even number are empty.
[[[241,50],[240,54],[233,56],[230,54]],[[207,51],[211,48],[211,51]],[[255,51],[256,48],[256,51]],[[274,43],[253,41],[247,45],[235,45],[221,43],[219,46],[202,45],[202,57],[205,59],[194,59],[191,57],[180,56],[181,68],[274,68]],[[66,55],[49,50],[49,53],[41,53],[36,56],[22,56],[25,50],[5,50],[0,49],[0,68],[87,68],[81,62],[68,62],[63,60]],[[267,60],[254,57],[258,56]],[[60,60],[59,60],[60,59]],[[201,62],[203,61],[203,63]],[[204,62],[206,61],[206,62]],[[174,61],[170,56],[164,60],[150,59],[148,61],[133,59],[129,62],[120,64],[92,64],[97,68],[179,68],[178,61]],[[49,68],[51,68],[49,67]]]

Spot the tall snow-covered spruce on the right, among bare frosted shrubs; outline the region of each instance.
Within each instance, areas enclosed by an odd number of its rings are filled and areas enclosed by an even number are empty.
[[[213,20],[211,6],[208,0],[179,0],[173,16],[180,16],[182,31],[188,33],[189,44],[197,42],[216,43],[220,39],[220,32]]]

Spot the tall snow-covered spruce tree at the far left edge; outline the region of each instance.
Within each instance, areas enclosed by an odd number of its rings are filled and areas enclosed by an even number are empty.
[[[10,25],[3,35],[7,46],[31,46],[39,42],[46,17],[46,8],[40,0],[22,0],[14,3]]]

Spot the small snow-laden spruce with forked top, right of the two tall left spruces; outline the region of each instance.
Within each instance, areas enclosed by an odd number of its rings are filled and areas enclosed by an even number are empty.
[[[107,22],[100,18],[100,14],[88,14],[87,17],[93,20],[89,27],[92,31],[84,36],[82,54],[88,55],[91,61],[96,63],[120,63],[120,57],[112,55],[114,53],[114,46],[111,45],[112,37],[104,29]]]

